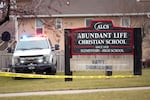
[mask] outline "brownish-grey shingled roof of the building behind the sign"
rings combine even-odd
[[[19,0],[18,0],[19,1]],[[30,0],[27,0],[30,2]],[[91,16],[149,14],[150,0],[33,0],[24,8],[36,15]],[[139,1],[139,2],[138,2]],[[21,0],[20,0],[21,2]],[[31,15],[31,14],[27,14]]]

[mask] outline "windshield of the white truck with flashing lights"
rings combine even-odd
[[[49,44],[46,40],[30,40],[20,41],[17,44],[16,50],[30,50],[30,49],[48,49]]]

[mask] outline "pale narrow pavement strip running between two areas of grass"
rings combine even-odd
[[[62,95],[62,94],[80,94],[92,92],[110,92],[110,91],[133,91],[133,90],[150,90],[150,87],[130,87],[130,88],[109,88],[109,89],[87,89],[87,90],[63,90],[63,91],[40,91],[40,92],[23,92],[23,93],[5,93],[0,97],[32,96],[32,95]]]

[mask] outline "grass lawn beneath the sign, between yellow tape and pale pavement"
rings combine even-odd
[[[74,75],[102,74],[101,72],[74,72]],[[12,78],[0,77],[0,93],[150,86],[149,76],[150,69],[143,70],[143,75],[135,78],[73,79],[72,82],[65,82],[64,79],[13,80]]]

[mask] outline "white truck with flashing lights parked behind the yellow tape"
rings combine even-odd
[[[12,57],[11,71],[15,73],[55,74],[56,50],[46,37],[25,37],[20,39]]]

